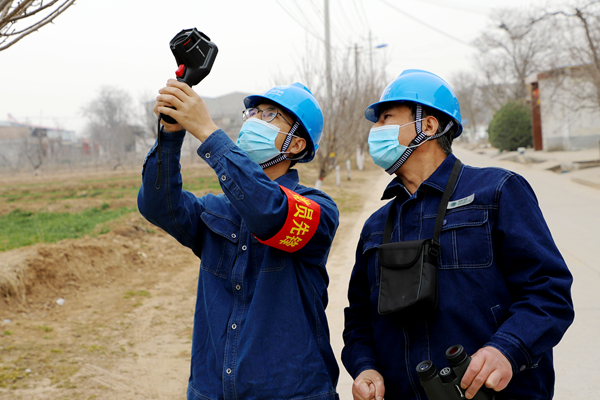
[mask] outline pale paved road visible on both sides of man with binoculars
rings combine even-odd
[[[498,166],[515,171],[523,175],[535,190],[550,231],[575,279],[575,322],[555,348],[555,398],[597,398],[600,391],[600,379],[596,373],[596,364],[600,363],[600,346],[596,343],[600,336],[600,190],[571,181],[569,174],[555,174],[528,165],[500,161],[491,158],[489,153],[480,155],[456,147],[455,154],[465,164]],[[343,346],[342,310],[346,305],[351,268],[348,255],[353,259],[362,223],[382,205],[379,196],[389,180],[390,177],[382,173],[353,232],[348,235],[353,235],[353,239],[337,245],[330,257],[328,269],[332,272],[332,284],[328,315],[332,344],[338,356]],[[352,380],[341,362],[340,367],[340,398],[351,400]]]

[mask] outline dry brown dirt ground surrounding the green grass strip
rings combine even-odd
[[[196,180],[212,173],[202,165],[186,168]],[[334,248],[356,243],[349,235],[381,171],[367,163],[352,174],[348,181],[344,172],[339,187],[333,174],[323,185],[341,212]],[[301,177],[312,186],[316,171],[301,166]],[[0,215],[16,208],[132,207],[131,187],[139,181],[139,168],[4,176]],[[124,194],[86,195],[99,186]],[[213,190],[206,186],[194,193]],[[51,191],[75,194],[57,198]],[[185,398],[199,260],[136,212],[110,228],[0,253],[0,399]]]

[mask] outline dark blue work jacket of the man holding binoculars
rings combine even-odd
[[[470,355],[493,346],[514,374],[497,400],[550,399],[552,347],[574,317],[572,276],[521,176],[464,165],[440,235],[438,308],[410,319],[377,312],[377,250],[388,212],[395,221],[392,241],[431,238],[455,160],[449,155],[412,195],[393,180],[383,199],[395,199],[365,223],[345,309],[342,361],[354,378],[367,369],[381,373],[386,399],[426,400],[417,364],[432,360],[441,370],[452,345]]]

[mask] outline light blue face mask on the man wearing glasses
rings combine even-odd
[[[277,134],[277,126],[258,118],[250,118],[242,125],[236,145],[246,152],[252,161],[262,164],[283,154],[275,147]]]

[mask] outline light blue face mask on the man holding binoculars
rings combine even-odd
[[[384,125],[378,128],[372,128],[369,132],[369,153],[373,158],[373,162],[381,168],[389,169],[409,147],[418,147],[422,143],[415,146],[404,146],[398,141],[400,128],[422,121],[423,119],[409,122],[404,125]]]

